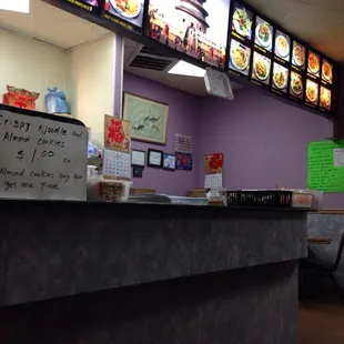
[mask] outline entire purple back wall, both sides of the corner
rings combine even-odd
[[[145,168],[142,179],[133,179],[135,188],[184,195],[191,188],[203,186],[203,156],[216,151],[224,152],[227,189],[306,188],[307,142],[332,135],[326,119],[255,90],[235,92],[234,101],[200,99],[130,73],[124,73],[123,89],[170,104],[168,145],[133,141],[134,149],[173,153],[174,133],[193,139],[194,171]],[[344,209],[344,194],[325,194],[324,206]]]

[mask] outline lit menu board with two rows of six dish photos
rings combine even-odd
[[[227,71],[330,115],[335,64],[240,0],[230,14]]]

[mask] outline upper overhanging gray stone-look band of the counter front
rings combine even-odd
[[[306,256],[306,212],[1,201],[0,303]]]

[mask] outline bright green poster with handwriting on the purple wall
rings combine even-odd
[[[310,142],[308,189],[344,192],[344,141]]]

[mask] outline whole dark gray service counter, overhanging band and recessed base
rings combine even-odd
[[[0,205],[6,340],[297,343],[304,211],[54,201]]]

